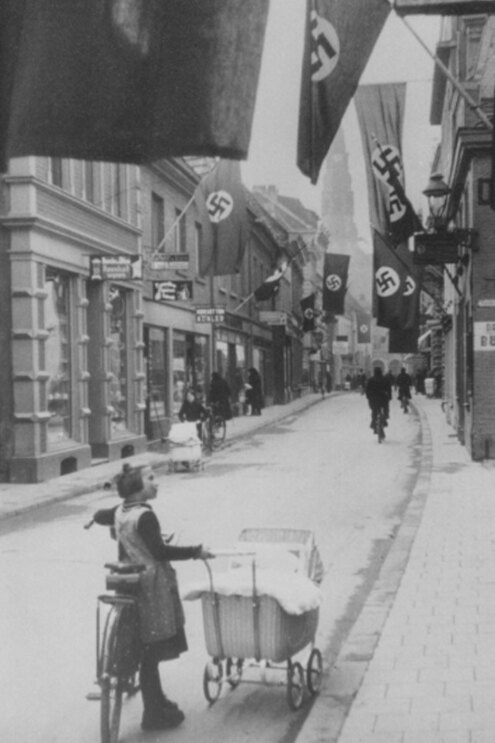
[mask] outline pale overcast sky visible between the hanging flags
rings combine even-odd
[[[271,0],[249,159],[243,164],[246,185],[275,184],[321,211],[322,172],[316,186],[296,166],[299,87],[304,38],[305,0]],[[409,19],[431,50],[439,38],[436,16]],[[418,208],[426,185],[438,128],[429,125],[433,61],[403,22],[391,13],[361,79],[362,83],[408,82],[403,154],[407,193]],[[369,243],[365,170],[353,103],[344,117],[360,236]],[[323,166],[324,167],[324,166]]]

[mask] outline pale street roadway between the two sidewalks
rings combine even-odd
[[[237,441],[208,460],[204,471],[159,478],[154,508],[181,544],[231,547],[245,527],[314,531],[325,565],[317,646],[326,667],[359,612],[411,494],[420,458],[414,413],[392,403],[387,440],[378,445],[358,393],[327,397],[305,412]],[[116,468],[117,469],[117,468]],[[115,503],[94,493],[0,525],[4,611],[0,683],[6,743],[93,743],[99,708],[93,688],[95,605],[103,563],[115,556],[106,529],[83,525],[94,510]],[[214,571],[225,568],[216,560]],[[200,563],[178,567],[184,589],[204,577]],[[177,730],[142,733],[141,701],[124,705],[121,740],[225,743],[289,742],[309,704],[292,712],[276,685],[224,687],[208,707],[202,691],[208,656],[200,602],[184,602],[189,652],[161,667],[164,688],[186,713]],[[256,669],[246,678],[260,681]],[[275,681],[271,676],[268,681]]]

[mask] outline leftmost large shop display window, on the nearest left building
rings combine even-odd
[[[71,420],[71,332],[70,278],[46,270],[47,298],[44,311],[45,365],[47,380],[47,447],[56,448],[72,434]]]

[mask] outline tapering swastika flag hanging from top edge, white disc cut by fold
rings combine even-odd
[[[321,165],[390,13],[383,0],[307,0],[297,165]]]

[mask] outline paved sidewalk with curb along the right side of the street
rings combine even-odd
[[[413,399],[423,463],[401,527],[297,743],[493,743],[495,463]]]

